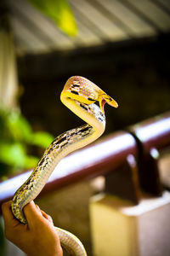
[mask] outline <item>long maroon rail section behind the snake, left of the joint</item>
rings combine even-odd
[[[137,148],[133,136],[118,131],[99,143],[94,143],[68,155],[59,162],[48,179],[42,194],[60,189],[84,178],[97,177],[111,172],[126,160],[128,154],[136,154]],[[16,189],[26,181],[31,172],[25,172],[0,183],[0,205],[14,195]]]

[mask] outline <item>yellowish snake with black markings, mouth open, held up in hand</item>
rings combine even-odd
[[[20,223],[26,224],[26,217],[22,211],[30,201],[41,192],[48,177],[55,166],[67,154],[93,143],[105,131],[105,103],[117,108],[117,102],[108,96],[104,90],[88,79],[73,76],[65,83],[60,94],[61,102],[79,118],[85,121],[84,125],[65,131],[48,146],[37,166],[31,172],[19,189],[14,193],[11,209],[14,217]],[[82,242],[71,232],[54,227],[59,235],[61,246],[75,256],[86,256]]]

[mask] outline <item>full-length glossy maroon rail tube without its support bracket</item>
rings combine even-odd
[[[170,112],[154,119],[148,119],[138,125],[133,125],[127,131],[117,131],[111,136],[105,137],[77,152],[68,155],[59,162],[48,179],[41,195],[60,189],[82,179],[89,179],[99,175],[105,175],[122,166],[129,154],[135,158],[139,155],[139,147],[145,154],[150,148],[167,148],[170,146]],[[137,140],[136,140],[137,139]],[[139,142],[140,146],[139,146]],[[139,172],[143,172],[139,168]],[[0,183],[0,205],[8,201],[14,195],[16,189],[26,181],[31,172],[25,172]]]

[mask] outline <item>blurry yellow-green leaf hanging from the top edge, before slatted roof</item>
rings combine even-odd
[[[77,25],[66,0],[29,0],[29,2],[54,20],[63,32],[70,36],[77,34]]]

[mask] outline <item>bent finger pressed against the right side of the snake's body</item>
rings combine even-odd
[[[31,201],[29,204],[27,204],[23,211],[29,227],[33,227],[35,223],[37,223],[37,219],[42,218],[42,213],[38,211],[34,201]]]

